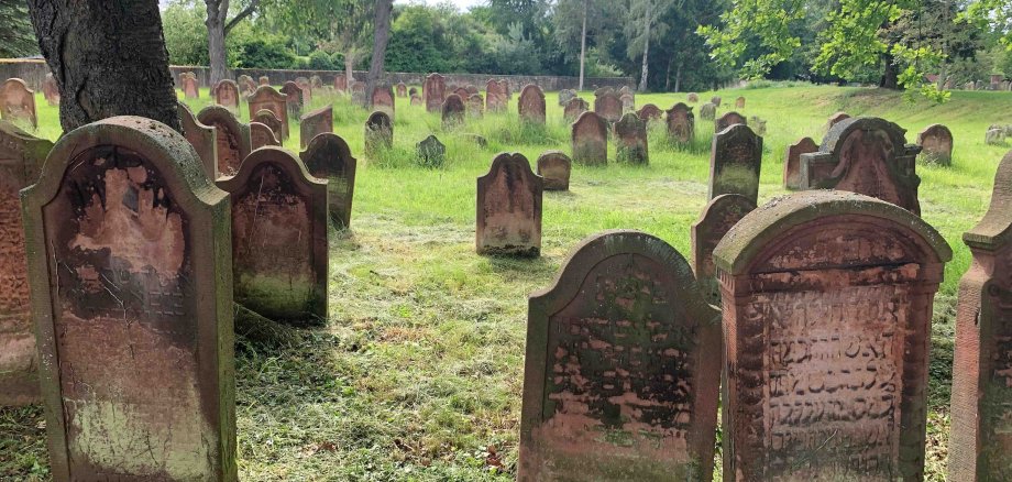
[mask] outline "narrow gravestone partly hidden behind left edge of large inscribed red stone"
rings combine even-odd
[[[703,297],[711,305],[721,306],[721,284],[713,264],[713,250],[727,231],[754,209],[756,202],[740,194],[722,194],[703,208],[700,219],[692,224],[692,271]]]

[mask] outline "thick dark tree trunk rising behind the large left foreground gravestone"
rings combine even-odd
[[[157,0],[28,3],[59,86],[65,131],[114,116],[141,116],[182,131]]]

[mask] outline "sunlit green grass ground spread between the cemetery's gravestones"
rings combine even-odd
[[[945,480],[955,295],[970,255],[964,231],[983,215],[994,169],[1008,146],[987,146],[991,123],[1012,123],[1012,94],[953,94],[946,105],[908,102],[877,89],[794,86],[718,92],[746,117],[768,120],[760,204],[784,194],[787,146],[820,141],[826,119],[844,110],[908,129],[908,141],[932,123],[956,140],[953,167],[919,166],[923,217],[953,245],[955,259],[936,297],[933,324],[928,479]],[[708,99],[713,92],[700,92]],[[190,102],[209,102],[207,90]],[[581,92],[593,103],[592,92]],[[706,201],[712,123],[696,120],[697,141],[680,150],[663,127],[650,131],[650,165],[574,166],[569,193],[546,193],[542,256],[474,253],[475,178],[498,152],[569,152],[570,130],[556,92],[546,128],[507,113],[444,131],[439,116],[397,99],[394,147],[365,158],[367,112],[334,101],[334,132],[359,158],[352,229],[332,232],[330,320],[297,340],[240,338],[237,350],[240,475],[289,480],[510,480],[516,474],[527,294],[548,286],[568,251],[605,229],[639,229],[689,253],[689,227]],[[638,95],[637,107],[662,109],[684,94]],[[38,97],[40,135],[59,134],[57,109]],[[242,117],[249,119],[243,106]],[[297,150],[298,128],[286,146]],[[447,144],[439,169],[414,164],[414,146],[430,133]],[[487,139],[480,147],[466,134]],[[614,145],[609,146],[614,158]],[[0,409],[0,480],[47,478],[40,407]],[[719,442],[719,440],[718,440]],[[717,458],[721,454],[718,452]],[[721,464],[717,463],[719,470]],[[719,476],[719,473],[718,473]]]

